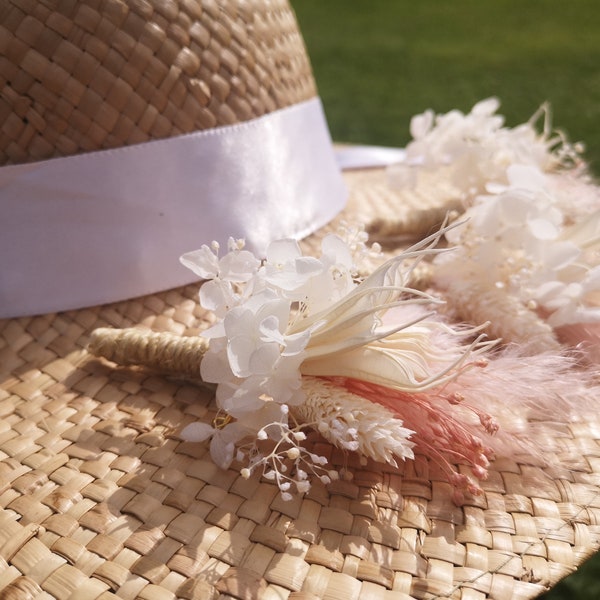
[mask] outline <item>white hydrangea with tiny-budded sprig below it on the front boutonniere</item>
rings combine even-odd
[[[330,335],[331,307],[347,314],[355,303],[361,306],[357,298],[340,309],[340,301],[359,287],[357,263],[379,252],[376,245],[366,246],[362,229],[343,226],[342,233],[347,241],[336,235],[322,240],[318,259],[303,256],[298,243],[290,239],[272,242],[264,261],[245,250],[242,241],[233,239],[221,258],[215,243],[181,258],[185,266],[207,280],[200,289],[200,302],[218,317],[217,323],[203,332],[210,346],[200,374],[204,381],[217,384],[217,405],[224,415],[215,427],[189,425],[182,437],[188,441],[210,439],[211,456],[222,468],[228,468],[234,458],[248,461],[242,469],[244,476],[262,468],[284,497],[292,483],[297,491],[306,491],[310,474],[323,481],[337,476],[325,469],[325,459],[302,448],[305,434],[290,408],[305,399],[301,365],[311,352],[315,354],[314,347],[320,346],[325,355],[336,350],[324,341],[327,338],[335,346]],[[354,333],[360,332],[357,322],[362,321],[366,341],[377,323],[372,312],[362,314],[359,309],[358,318],[354,315]],[[357,338],[352,343],[357,343]],[[410,433],[402,430],[405,438]],[[264,451],[261,442],[265,442],[262,446],[270,442],[272,448]],[[411,444],[407,442],[406,447],[410,449]]]

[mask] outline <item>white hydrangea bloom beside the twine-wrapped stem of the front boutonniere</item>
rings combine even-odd
[[[231,417],[267,411],[270,422],[271,399],[280,405],[303,400],[300,365],[321,323],[305,327],[302,322],[355,287],[353,255],[336,235],[323,239],[320,259],[303,256],[291,239],[272,242],[264,262],[239,240],[230,240],[222,258],[216,252],[217,247],[203,246],[181,259],[208,280],[200,289],[200,302],[220,317],[203,332],[210,348],[200,374],[218,384],[217,401]]]

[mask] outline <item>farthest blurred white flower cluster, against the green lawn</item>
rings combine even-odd
[[[581,145],[571,145],[560,132],[551,130],[547,106],[514,128],[504,126],[504,117],[496,114],[499,106],[496,98],[488,98],[468,114],[452,110],[436,115],[427,110],[413,117],[413,140],[406,147],[405,162],[390,168],[392,184],[415,186],[419,172],[435,170],[454,185],[468,205],[490,182],[506,185],[510,165],[530,165],[549,172],[578,160]],[[540,134],[536,122],[541,117]]]

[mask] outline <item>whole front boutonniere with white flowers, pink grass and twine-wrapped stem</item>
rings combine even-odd
[[[425,453],[460,500],[465,491],[480,493],[477,481],[486,478],[494,447],[506,446],[506,434],[496,435],[502,414],[518,413],[513,424],[523,430],[529,404],[543,404],[558,388],[540,397],[547,364],[532,375],[535,359],[496,356],[496,341],[481,327],[450,325],[436,311],[439,299],[411,287],[419,263],[443,252],[436,244],[447,233],[367,276],[358,267],[379,249],[367,247],[360,229],[326,236],[318,258],[304,256],[293,240],[273,242],[264,260],[239,240],[223,255],[216,244],[203,246],[181,259],[205,280],[200,302],[215,316],[202,337],[178,343],[169,335],[100,330],[92,351],[147,363],[151,345],[152,364],[212,384],[217,418],[188,424],[180,437],[209,443],[224,469],[235,462],[244,477],[274,481],[284,498],[306,492],[315,477],[340,476],[305,445],[309,427],[378,462],[397,465]],[[566,371],[563,363],[549,366]],[[521,381],[508,401],[515,376]],[[561,393],[572,396],[572,384],[567,378]]]

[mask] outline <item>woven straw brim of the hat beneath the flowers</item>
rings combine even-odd
[[[381,212],[376,177],[347,179]],[[553,431],[547,468],[500,458],[462,507],[422,457],[361,465],[318,437],[353,479],[285,502],[219,470],[177,438],[208,392],[85,350],[99,326],[198,333],[196,293],[0,322],[3,600],[524,600],[598,548],[600,417]]]

